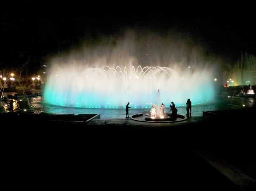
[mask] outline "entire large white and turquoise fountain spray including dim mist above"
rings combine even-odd
[[[177,38],[149,34],[128,33],[53,58],[45,102],[85,108],[125,108],[130,102],[132,108],[151,108],[158,89],[164,104],[212,100],[214,68],[202,50]]]

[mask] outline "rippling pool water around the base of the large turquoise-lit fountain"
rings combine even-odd
[[[2,108],[1,113],[9,112],[9,102],[1,102]],[[88,108],[75,108],[75,107],[63,107],[56,105],[49,105],[43,103],[42,97],[34,97],[30,99],[31,106],[28,106],[28,100],[15,100],[14,111],[27,110],[34,113],[65,113],[65,114],[101,114],[101,118],[125,118],[125,109],[88,109]],[[192,100],[193,103],[193,100]],[[214,111],[214,110],[228,110],[228,109],[239,109],[242,107],[250,107],[255,105],[255,98],[240,98],[240,97],[228,97],[228,96],[217,96],[214,102],[208,102],[199,105],[192,105],[192,116],[203,116],[203,111]],[[132,106],[132,105],[131,105]],[[177,107],[178,114],[186,114],[186,106]],[[130,108],[129,115],[136,113],[148,114],[149,108]],[[169,105],[165,105],[165,112],[169,113]]]

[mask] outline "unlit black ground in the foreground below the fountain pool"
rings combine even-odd
[[[210,150],[255,180],[255,116],[251,108],[174,125],[5,117],[5,179],[39,185],[33,188],[59,183],[74,189],[82,182],[94,189],[254,190],[255,183],[241,187],[197,151]]]

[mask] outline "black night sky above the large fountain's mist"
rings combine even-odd
[[[95,38],[117,34],[125,27],[160,33],[175,29],[189,34],[195,42],[203,41],[212,53],[231,60],[236,60],[241,51],[256,54],[253,6],[157,8],[131,2],[129,6],[116,6],[119,8],[73,1],[4,4],[0,13],[0,67],[18,67],[28,57],[33,65],[46,55],[75,47],[86,35]]]

